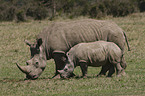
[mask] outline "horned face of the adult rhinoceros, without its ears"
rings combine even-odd
[[[46,61],[39,54],[35,55],[32,59],[28,60],[26,66],[20,66],[16,64],[17,67],[26,74],[26,79],[37,79],[46,67]]]

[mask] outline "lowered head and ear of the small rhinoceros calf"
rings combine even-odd
[[[74,62],[70,59],[67,53],[66,55],[66,61],[65,61],[65,67],[62,70],[58,70],[60,73],[61,78],[70,78],[73,75],[74,71]]]

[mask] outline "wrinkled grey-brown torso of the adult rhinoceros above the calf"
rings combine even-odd
[[[55,22],[44,33],[46,34],[44,37],[47,38],[44,40],[47,41],[47,45],[53,51],[67,52],[78,43],[98,40],[112,41],[124,47],[122,29],[110,21],[85,19],[70,22]],[[118,41],[117,39],[120,37],[122,40]],[[118,43],[120,41],[123,41],[122,45]]]

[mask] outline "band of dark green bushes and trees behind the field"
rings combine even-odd
[[[0,0],[0,21],[118,17],[145,11],[145,0]]]

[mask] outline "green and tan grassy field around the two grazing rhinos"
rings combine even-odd
[[[39,79],[24,80],[25,75],[15,65],[16,62],[25,65],[30,58],[24,40],[33,42],[50,21],[0,22],[0,96],[145,96],[145,13],[105,19],[116,22],[129,39],[131,51],[126,47],[128,66],[124,77],[97,78],[100,68],[89,67],[86,79],[51,79],[55,65],[49,60]],[[75,74],[81,75],[79,67]]]

